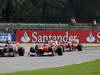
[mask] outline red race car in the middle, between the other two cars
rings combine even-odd
[[[30,48],[30,56],[33,53],[36,53],[37,55],[43,55],[44,53],[51,52],[52,56],[57,55],[63,55],[62,47],[59,45],[36,45],[35,48]]]

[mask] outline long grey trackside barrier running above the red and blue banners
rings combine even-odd
[[[51,24],[51,23],[0,23],[0,32],[15,32],[16,30],[100,30],[100,24]]]

